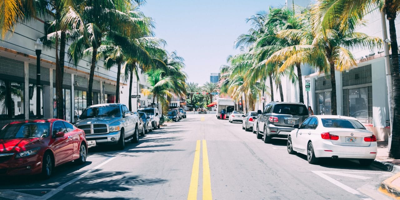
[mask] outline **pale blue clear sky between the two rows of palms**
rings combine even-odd
[[[166,40],[166,49],[185,59],[188,82],[200,85],[219,72],[234,49],[236,38],[247,33],[245,19],[286,0],[147,0],[141,7],[156,22],[156,37]]]

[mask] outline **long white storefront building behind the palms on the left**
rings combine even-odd
[[[44,22],[32,20],[18,24],[15,32],[0,40],[0,126],[16,121],[34,118],[36,110],[36,54],[34,43],[44,36]],[[66,46],[66,50],[68,45]],[[81,60],[78,66],[68,62],[64,66],[64,119],[74,122],[76,116],[86,108],[90,58]],[[41,110],[44,118],[56,116],[55,92],[55,49],[42,50],[40,64]],[[93,104],[115,102],[116,67],[104,68],[104,61],[96,64],[93,82]],[[122,81],[122,80],[121,80]],[[145,79],[140,74],[139,89],[144,88]],[[136,94],[136,82],[132,94]],[[128,104],[129,86],[120,85],[120,102]],[[132,110],[136,110],[136,99]],[[148,105],[148,97],[142,95],[140,105]]]

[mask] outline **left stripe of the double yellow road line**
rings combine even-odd
[[[198,180],[199,180],[199,164],[200,164],[200,140],[197,140],[196,151],[194,152],[192,177],[190,178],[188,200],[196,200],[197,199],[197,187],[198,187]]]

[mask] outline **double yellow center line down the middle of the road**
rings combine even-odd
[[[210,166],[208,163],[207,143],[203,142],[203,200],[212,200],[211,195],[211,178]],[[192,168],[192,177],[190,179],[188,200],[197,199],[197,188],[199,180],[199,165],[200,165],[200,140],[196,142],[196,151],[194,152],[194,161]]]

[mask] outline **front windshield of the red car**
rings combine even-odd
[[[0,131],[0,139],[45,138],[49,135],[49,122],[8,124]]]

